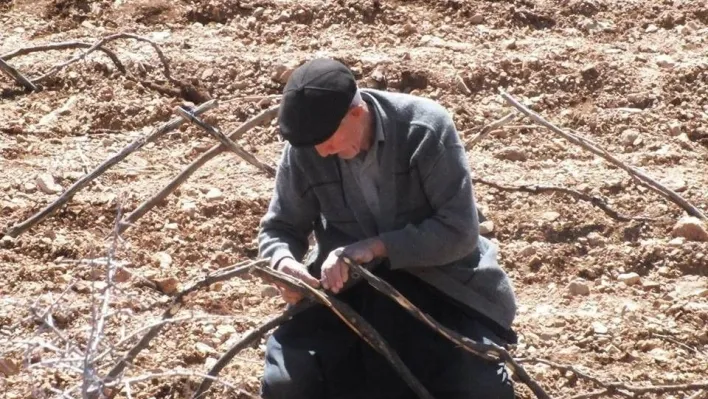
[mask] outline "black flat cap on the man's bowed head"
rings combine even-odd
[[[283,90],[281,136],[293,147],[325,142],[339,127],[356,90],[354,75],[339,61],[317,58],[299,66]]]

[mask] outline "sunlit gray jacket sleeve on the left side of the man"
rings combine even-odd
[[[283,151],[273,196],[258,233],[259,254],[270,258],[271,267],[285,257],[302,262],[318,215],[317,200],[312,190],[307,190],[304,175],[291,164],[288,149],[286,146]]]

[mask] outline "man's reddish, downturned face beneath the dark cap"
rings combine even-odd
[[[344,116],[339,128],[324,143],[315,146],[321,157],[337,155],[342,159],[352,159],[361,151],[364,124],[362,109],[355,107]]]

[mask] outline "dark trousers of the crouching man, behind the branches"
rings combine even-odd
[[[480,342],[505,342],[478,318],[403,271],[376,274],[443,325]],[[360,282],[338,297],[383,335],[436,399],[513,399],[504,367],[479,359],[415,319],[393,300]],[[388,361],[333,312],[316,306],[268,339],[264,399],[414,399]]]

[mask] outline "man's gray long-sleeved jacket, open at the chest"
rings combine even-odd
[[[314,232],[320,264],[335,248],[378,235],[392,269],[412,273],[509,329],[514,292],[496,246],[479,235],[467,156],[451,116],[421,97],[371,89],[362,96],[385,132],[379,149],[383,220],[369,220],[361,191],[336,157],[286,143],[261,221],[260,255],[271,264],[285,256],[303,262]]]

